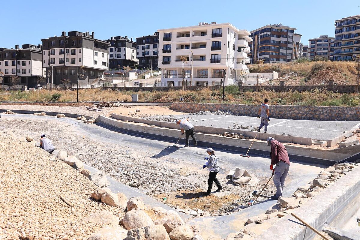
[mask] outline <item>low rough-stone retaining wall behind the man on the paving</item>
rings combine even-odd
[[[180,112],[231,111],[241,116],[257,116],[260,105],[212,104],[212,103],[172,103],[171,109]],[[297,120],[359,121],[360,107],[321,107],[271,105],[270,117]]]

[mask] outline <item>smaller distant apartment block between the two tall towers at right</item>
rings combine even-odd
[[[308,58],[310,60],[314,59],[315,56],[322,56],[326,59],[329,59],[330,53],[332,53],[331,44],[334,40],[334,37],[329,37],[328,35],[320,35],[315,39],[309,39],[309,48],[308,48]]]

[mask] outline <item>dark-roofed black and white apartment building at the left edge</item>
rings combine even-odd
[[[23,44],[22,48],[15,45],[15,49],[0,48],[0,72],[4,73],[0,83],[11,85],[10,77],[18,76],[17,84],[35,87],[36,77],[44,77],[41,49],[41,45],[32,44]]]

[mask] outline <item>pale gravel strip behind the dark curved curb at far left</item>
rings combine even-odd
[[[0,105],[1,109],[10,109],[10,110],[33,110],[35,112],[57,112],[57,113],[73,113],[78,114],[79,116],[85,115],[93,118],[97,118],[99,115],[107,115],[113,112],[114,108],[103,108],[101,111],[89,111],[85,107],[58,107],[58,106],[42,106],[42,105]]]

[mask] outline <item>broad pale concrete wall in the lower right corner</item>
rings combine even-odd
[[[360,167],[355,167],[346,176],[341,177],[332,185],[302,205],[294,213],[321,231],[325,223],[341,228],[360,207]],[[279,231],[286,229],[286,231]],[[310,240],[315,233],[307,229],[293,216],[280,219],[272,227],[265,230],[256,240]]]

